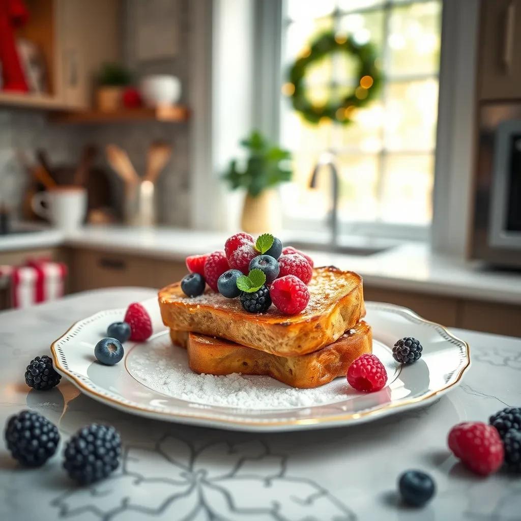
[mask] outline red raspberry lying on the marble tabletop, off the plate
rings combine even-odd
[[[486,476],[503,463],[499,432],[481,421],[464,421],[449,432],[449,449],[473,472]]]

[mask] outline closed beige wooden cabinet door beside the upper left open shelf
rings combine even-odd
[[[119,0],[57,0],[60,97],[75,108],[89,108],[96,74],[107,61],[119,61]]]

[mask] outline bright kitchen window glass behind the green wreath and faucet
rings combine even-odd
[[[344,232],[423,238],[432,220],[441,0],[287,0],[283,4],[279,135],[294,159],[294,179],[282,188],[286,226],[320,229],[331,206],[329,176],[308,188],[319,155],[332,151],[340,177],[339,219]],[[354,122],[311,125],[284,95],[293,60],[325,30],[373,42],[381,59],[379,99]],[[322,59],[309,71],[313,101],[335,82],[349,81],[345,56]],[[346,65],[345,65],[346,64]],[[348,71],[346,75],[346,70]],[[353,77],[353,88],[358,79]]]

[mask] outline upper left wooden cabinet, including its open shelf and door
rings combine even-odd
[[[30,19],[17,35],[41,49],[48,92],[0,91],[0,105],[42,109],[86,109],[95,74],[120,52],[119,0],[26,0]]]

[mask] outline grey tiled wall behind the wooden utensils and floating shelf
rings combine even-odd
[[[175,0],[178,19],[178,49],[168,59],[139,61],[134,48],[134,32],[137,24],[151,23],[152,19],[140,21],[135,16],[136,0],[123,3],[122,34],[123,58],[136,73],[137,78],[147,73],[171,73],[182,84],[181,103],[187,103],[190,87],[190,0]],[[158,3],[160,7],[160,2]],[[172,156],[158,180],[159,222],[172,226],[188,226],[189,208],[189,123],[170,124],[159,122],[127,122],[110,125],[64,125],[49,122],[47,115],[38,110],[0,108],[0,201],[21,215],[23,194],[28,175],[19,164],[16,151],[26,152],[32,159],[38,148],[45,150],[52,164],[76,165],[85,144],[98,148],[96,165],[103,167],[111,178],[115,204],[121,205],[121,190],[117,190],[119,178],[110,169],[104,157],[109,143],[122,147],[130,156],[134,168],[143,175],[148,145],[162,140],[172,145]]]

